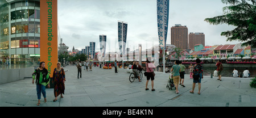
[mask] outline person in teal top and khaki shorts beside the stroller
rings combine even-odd
[[[173,75],[173,78],[174,78],[174,85],[175,85],[175,93],[176,94],[179,94],[179,81],[180,81],[180,66],[178,65],[179,64],[179,60],[176,60],[174,62],[175,65],[172,66],[172,69],[171,71],[174,72],[174,75]]]

